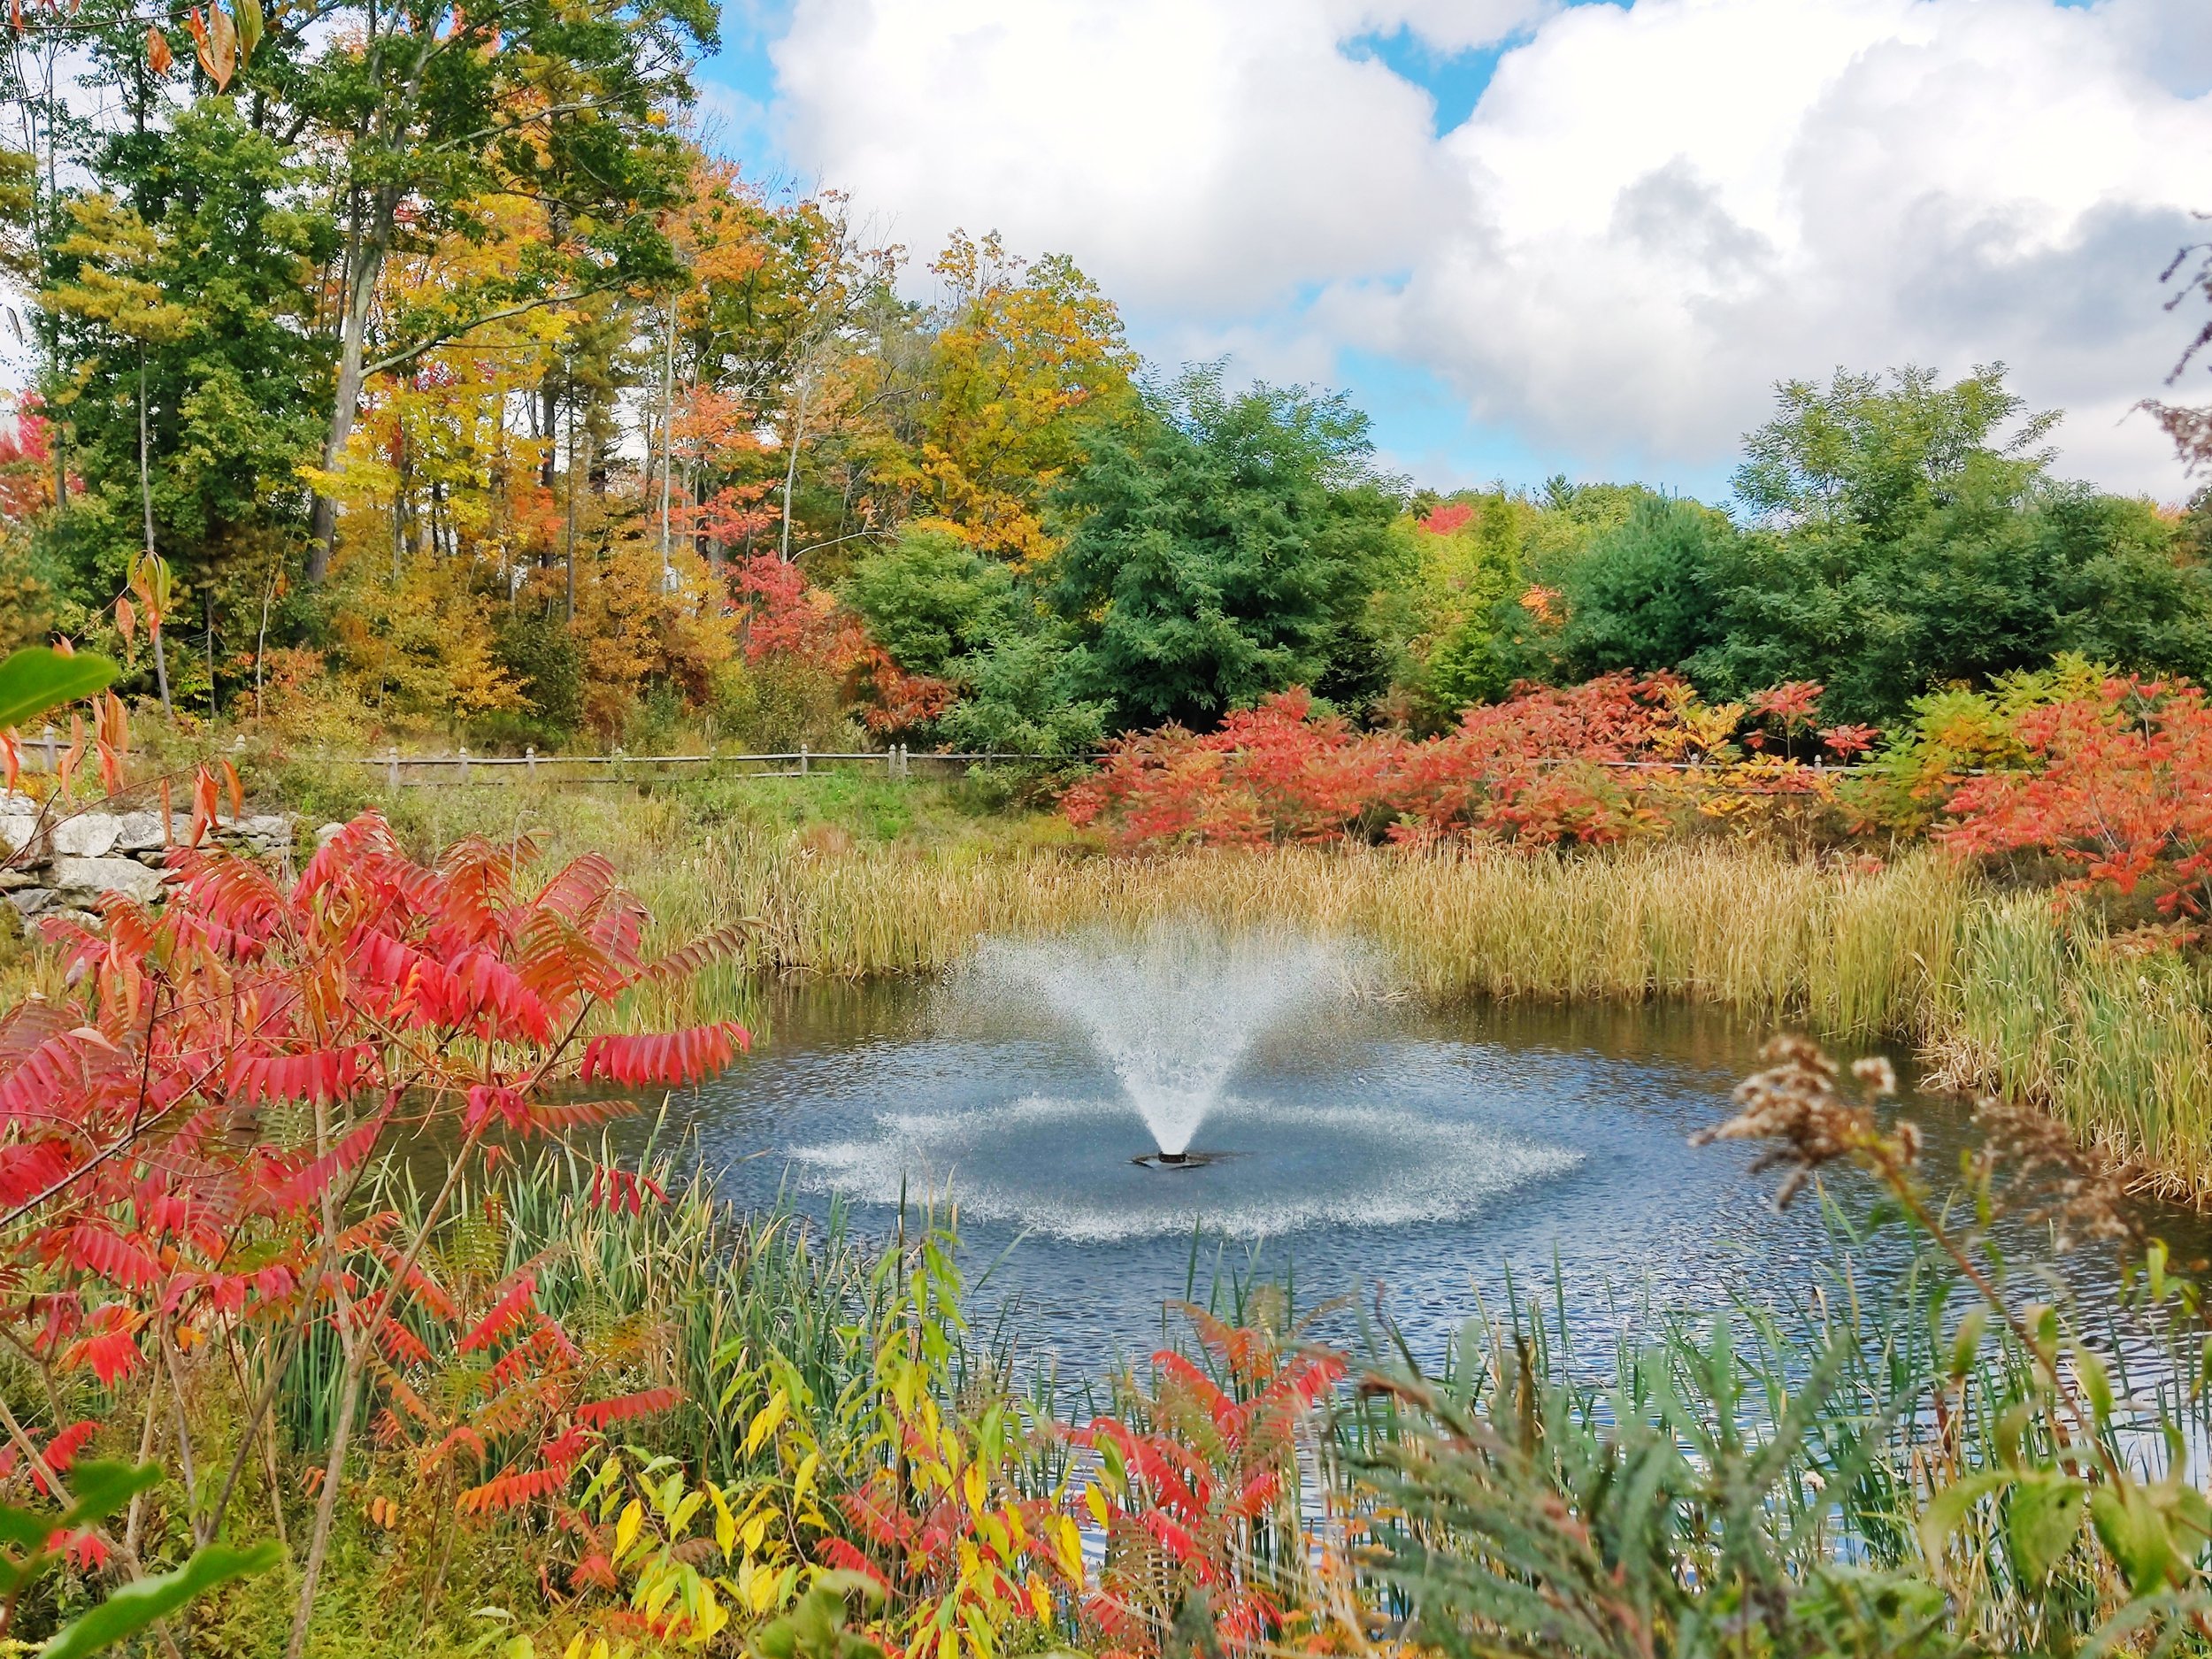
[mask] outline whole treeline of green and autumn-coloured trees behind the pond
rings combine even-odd
[[[192,18],[33,11],[0,71],[0,644],[179,719],[1077,754],[1292,686],[1431,734],[1615,670],[1874,726],[2212,672],[2212,520],[2055,480],[2002,369],[1785,385],[1730,511],[1413,493],[1340,396],[1148,372],[1068,259],[958,234],[911,299],[686,135],[706,7]]]

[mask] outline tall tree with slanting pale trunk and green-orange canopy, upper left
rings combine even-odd
[[[714,44],[708,0],[489,0],[482,7],[354,4],[285,18],[272,69],[334,148],[343,201],[343,299],[325,471],[345,453],[361,394],[484,321],[677,276],[659,215],[688,164],[666,131],[690,97],[686,64]],[[473,234],[500,201],[538,204],[542,241],[520,272],[438,294],[378,279],[403,248]],[[374,349],[372,349],[374,345]],[[336,533],[316,500],[307,575]]]

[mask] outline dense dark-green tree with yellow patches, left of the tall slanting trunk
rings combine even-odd
[[[42,296],[69,365],[46,400],[86,478],[58,526],[62,597],[82,619],[157,549],[184,615],[210,582],[250,606],[307,520],[299,467],[330,396],[310,285],[334,230],[296,206],[296,161],[223,97],[117,135],[97,173],[117,195],[71,204]]]

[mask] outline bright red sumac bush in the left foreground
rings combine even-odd
[[[212,814],[210,783],[195,843]],[[0,1022],[0,1201],[29,1223],[13,1245],[15,1347],[46,1398],[84,1371],[104,1387],[139,1378],[150,1356],[148,1411],[170,1391],[179,1436],[190,1400],[230,1394],[237,1449],[179,1444],[177,1524],[195,1544],[226,1526],[288,1356],[316,1332],[343,1354],[294,1652],[363,1391],[385,1400],[380,1433],[416,1438],[462,1511],[551,1495],[608,1425],[664,1405],[593,1396],[599,1374],[535,1305],[529,1272],[476,1287],[434,1274],[431,1232],[478,1152],[602,1121],[628,1099],[593,1099],[595,1084],[675,1086],[743,1042],[726,1022],[591,1035],[617,995],[681,978],[712,947],[648,960],[644,911],[604,860],[526,891],[526,856],[467,843],[425,867],[365,816],[281,885],[188,845],[157,911],[108,900],[97,933],[51,927],[66,1000]],[[352,1210],[403,1104],[453,1137],[411,1225]],[[628,1190],[606,1179],[611,1201]],[[416,1367],[465,1387],[434,1405]],[[190,1475],[221,1462],[226,1478]]]

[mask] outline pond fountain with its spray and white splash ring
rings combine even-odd
[[[1579,1164],[1398,1051],[1378,960],[1290,929],[993,940],[783,1144],[801,1190],[1071,1241],[1478,1214]]]

